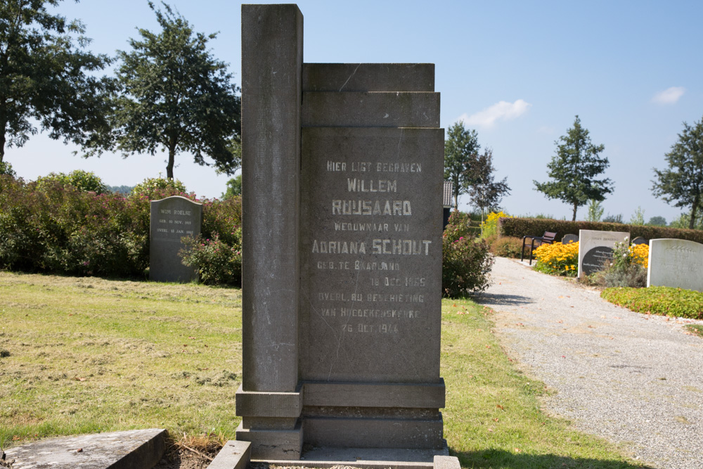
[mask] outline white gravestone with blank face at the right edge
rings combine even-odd
[[[683,239],[650,240],[647,286],[703,292],[703,244]]]

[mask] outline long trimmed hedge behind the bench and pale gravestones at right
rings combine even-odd
[[[501,218],[498,220],[500,236],[542,236],[545,231],[556,231],[557,240],[564,235],[575,234],[579,230],[598,231],[628,231],[630,238],[657,239],[676,238],[695,241],[703,244],[703,231],[666,228],[664,226],[626,225],[621,223],[605,223],[602,221],[566,221],[537,218]]]

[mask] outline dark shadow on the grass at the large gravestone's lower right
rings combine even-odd
[[[638,465],[623,461],[609,461],[593,458],[569,458],[556,454],[522,454],[502,449],[487,449],[462,453],[451,451],[457,456],[462,468],[491,469],[654,469],[650,465]]]

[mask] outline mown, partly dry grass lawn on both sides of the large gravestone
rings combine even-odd
[[[553,390],[505,354],[493,316],[471,300],[442,302],[444,435],[463,467],[640,467],[540,410]],[[241,363],[240,289],[0,272],[4,449],[167,428],[176,458],[195,454],[184,446],[207,452],[234,438]]]

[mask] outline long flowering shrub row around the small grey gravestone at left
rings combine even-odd
[[[85,172],[50,174],[30,183],[0,175],[0,268],[143,276],[149,265],[150,200],[182,195],[198,201],[179,181],[146,179],[128,197],[99,193],[100,184]],[[240,251],[241,199],[202,204],[203,239]],[[213,271],[218,265],[224,266],[222,274]],[[208,283],[240,281],[240,260],[208,261],[203,269]]]

